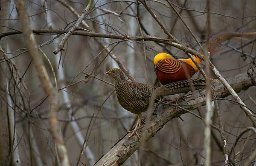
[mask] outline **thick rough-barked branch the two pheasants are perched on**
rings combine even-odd
[[[250,86],[253,86],[253,83],[251,82],[251,79],[248,77],[247,73],[242,73],[229,79],[228,83],[237,93],[241,90],[248,89]],[[221,82],[214,84],[213,87],[215,96],[217,98],[224,98],[230,94],[229,90],[227,90],[224,85],[221,84]],[[206,90],[196,91],[195,93],[184,96],[185,101],[178,102],[178,104],[188,104],[188,106],[183,107],[183,109],[177,109],[177,107],[173,105],[160,104],[160,109],[157,111],[157,114],[153,115],[151,120],[148,122],[150,125],[144,125],[138,130],[140,140],[135,135],[131,138],[128,138],[128,134],[125,135],[95,164],[95,166],[122,164],[139,148],[140,145],[148,141],[156,134],[156,132],[163,128],[167,122],[187,113],[185,109],[193,110],[197,108],[198,103],[204,104],[205,96]]]

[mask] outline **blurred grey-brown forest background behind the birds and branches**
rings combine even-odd
[[[192,35],[167,1],[145,2],[182,45],[198,50]],[[197,39],[205,43],[206,1],[171,2]],[[88,0],[25,0],[24,5],[50,82],[58,89],[58,102],[54,107],[70,164],[91,166],[131,129],[137,118],[119,105],[113,93],[114,87],[102,81],[113,83],[105,72],[110,68],[120,68],[121,64],[137,82],[159,86],[153,70],[154,56],[160,52],[170,53],[176,58],[187,56],[175,47],[153,41],[121,40],[82,33],[72,35],[64,45],[65,51],[55,55],[53,51],[64,33],[75,25],[77,14],[81,14],[88,3]],[[9,165],[10,162],[24,166],[58,165],[55,143],[58,144],[59,140],[53,139],[49,132],[50,101],[40,82],[43,71],[35,68],[29,54],[15,2],[1,0],[0,14],[0,165]],[[210,0],[211,37],[222,32],[244,33],[255,29],[255,0]],[[78,30],[89,31],[122,37],[150,35],[169,39],[139,0],[95,0]],[[255,41],[255,37],[233,38],[216,49],[211,60],[225,79],[247,71],[256,56]],[[198,77],[202,77],[200,72],[195,76]],[[238,93],[246,106],[254,111],[255,91],[254,86]],[[227,98],[233,99],[232,96]],[[218,102],[230,159],[236,159],[238,165],[255,165],[255,127],[238,104]],[[202,107],[203,115],[204,110]],[[212,137],[205,142],[204,122],[189,113],[182,118],[184,121],[175,118],[167,123],[123,165],[204,164],[205,143],[212,147],[211,164],[223,165],[219,132],[212,129]],[[212,121],[218,126],[216,115]],[[84,140],[86,149],[79,157]]]

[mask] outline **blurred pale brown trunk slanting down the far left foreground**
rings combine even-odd
[[[26,3],[23,0],[15,0],[15,5],[17,8],[17,12],[20,17],[20,22],[22,25],[23,35],[26,39],[26,46],[29,49],[29,54],[33,59],[35,64],[35,68],[38,71],[42,72],[42,76],[40,76],[40,81],[44,91],[49,96],[50,102],[50,110],[49,110],[49,130],[52,136],[55,139],[55,147],[57,149],[57,160],[60,161],[60,164],[63,166],[69,166],[69,160],[67,156],[67,149],[64,145],[64,141],[60,132],[59,124],[58,124],[58,110],[55,110],[56,104],[58,104],[58,93],[57,89],[53,87],[50,82],[49,75],[44,66],[44,61],[42,59],[41,54],[38,51],[37,44],[35,42],[35,36],[31,30],[29,17],[26,11]]]

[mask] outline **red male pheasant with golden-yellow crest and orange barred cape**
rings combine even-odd
[[[216,37],[213,37],[209,41],[208,50],[214,52],[214,49],[231,37],[243,37],[243,36],[253,36],[256,33],[223,33]],[[198,52],[202,53],[200,49]],[[193,58],[201,64],[202,59],[193,56]],[[175,59],[172,55],[167,53],[158,53],[154,57],[154,72],[157,74],[158,80],[161,84],[169,84],[172,82],[177,82],[185,79],[191,79],[191,77],[198,72],[198,68],[192,59]]]

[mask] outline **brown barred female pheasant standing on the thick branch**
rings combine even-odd
[[[120,105],[131,113],[138,115],[137,124],[134,130],[129,131],[132,132],[129,137],[136,133],[140,138],[137,133],[137,128],[140,128],[140,123],[142,121],[141,113],[148,109],[151,97],[159,99],[160,96],[188,92],[190,91],[190,85],[193,85],[195,89],[202,89],[206,85],[204,79],[191,79],[190,82],[188,80],[183,80],[156,88],[149,84],[126,81],[122,70],[118,68],[112,68],[106,72],[106,74],[110,75],[114,80],[116,97]]]

